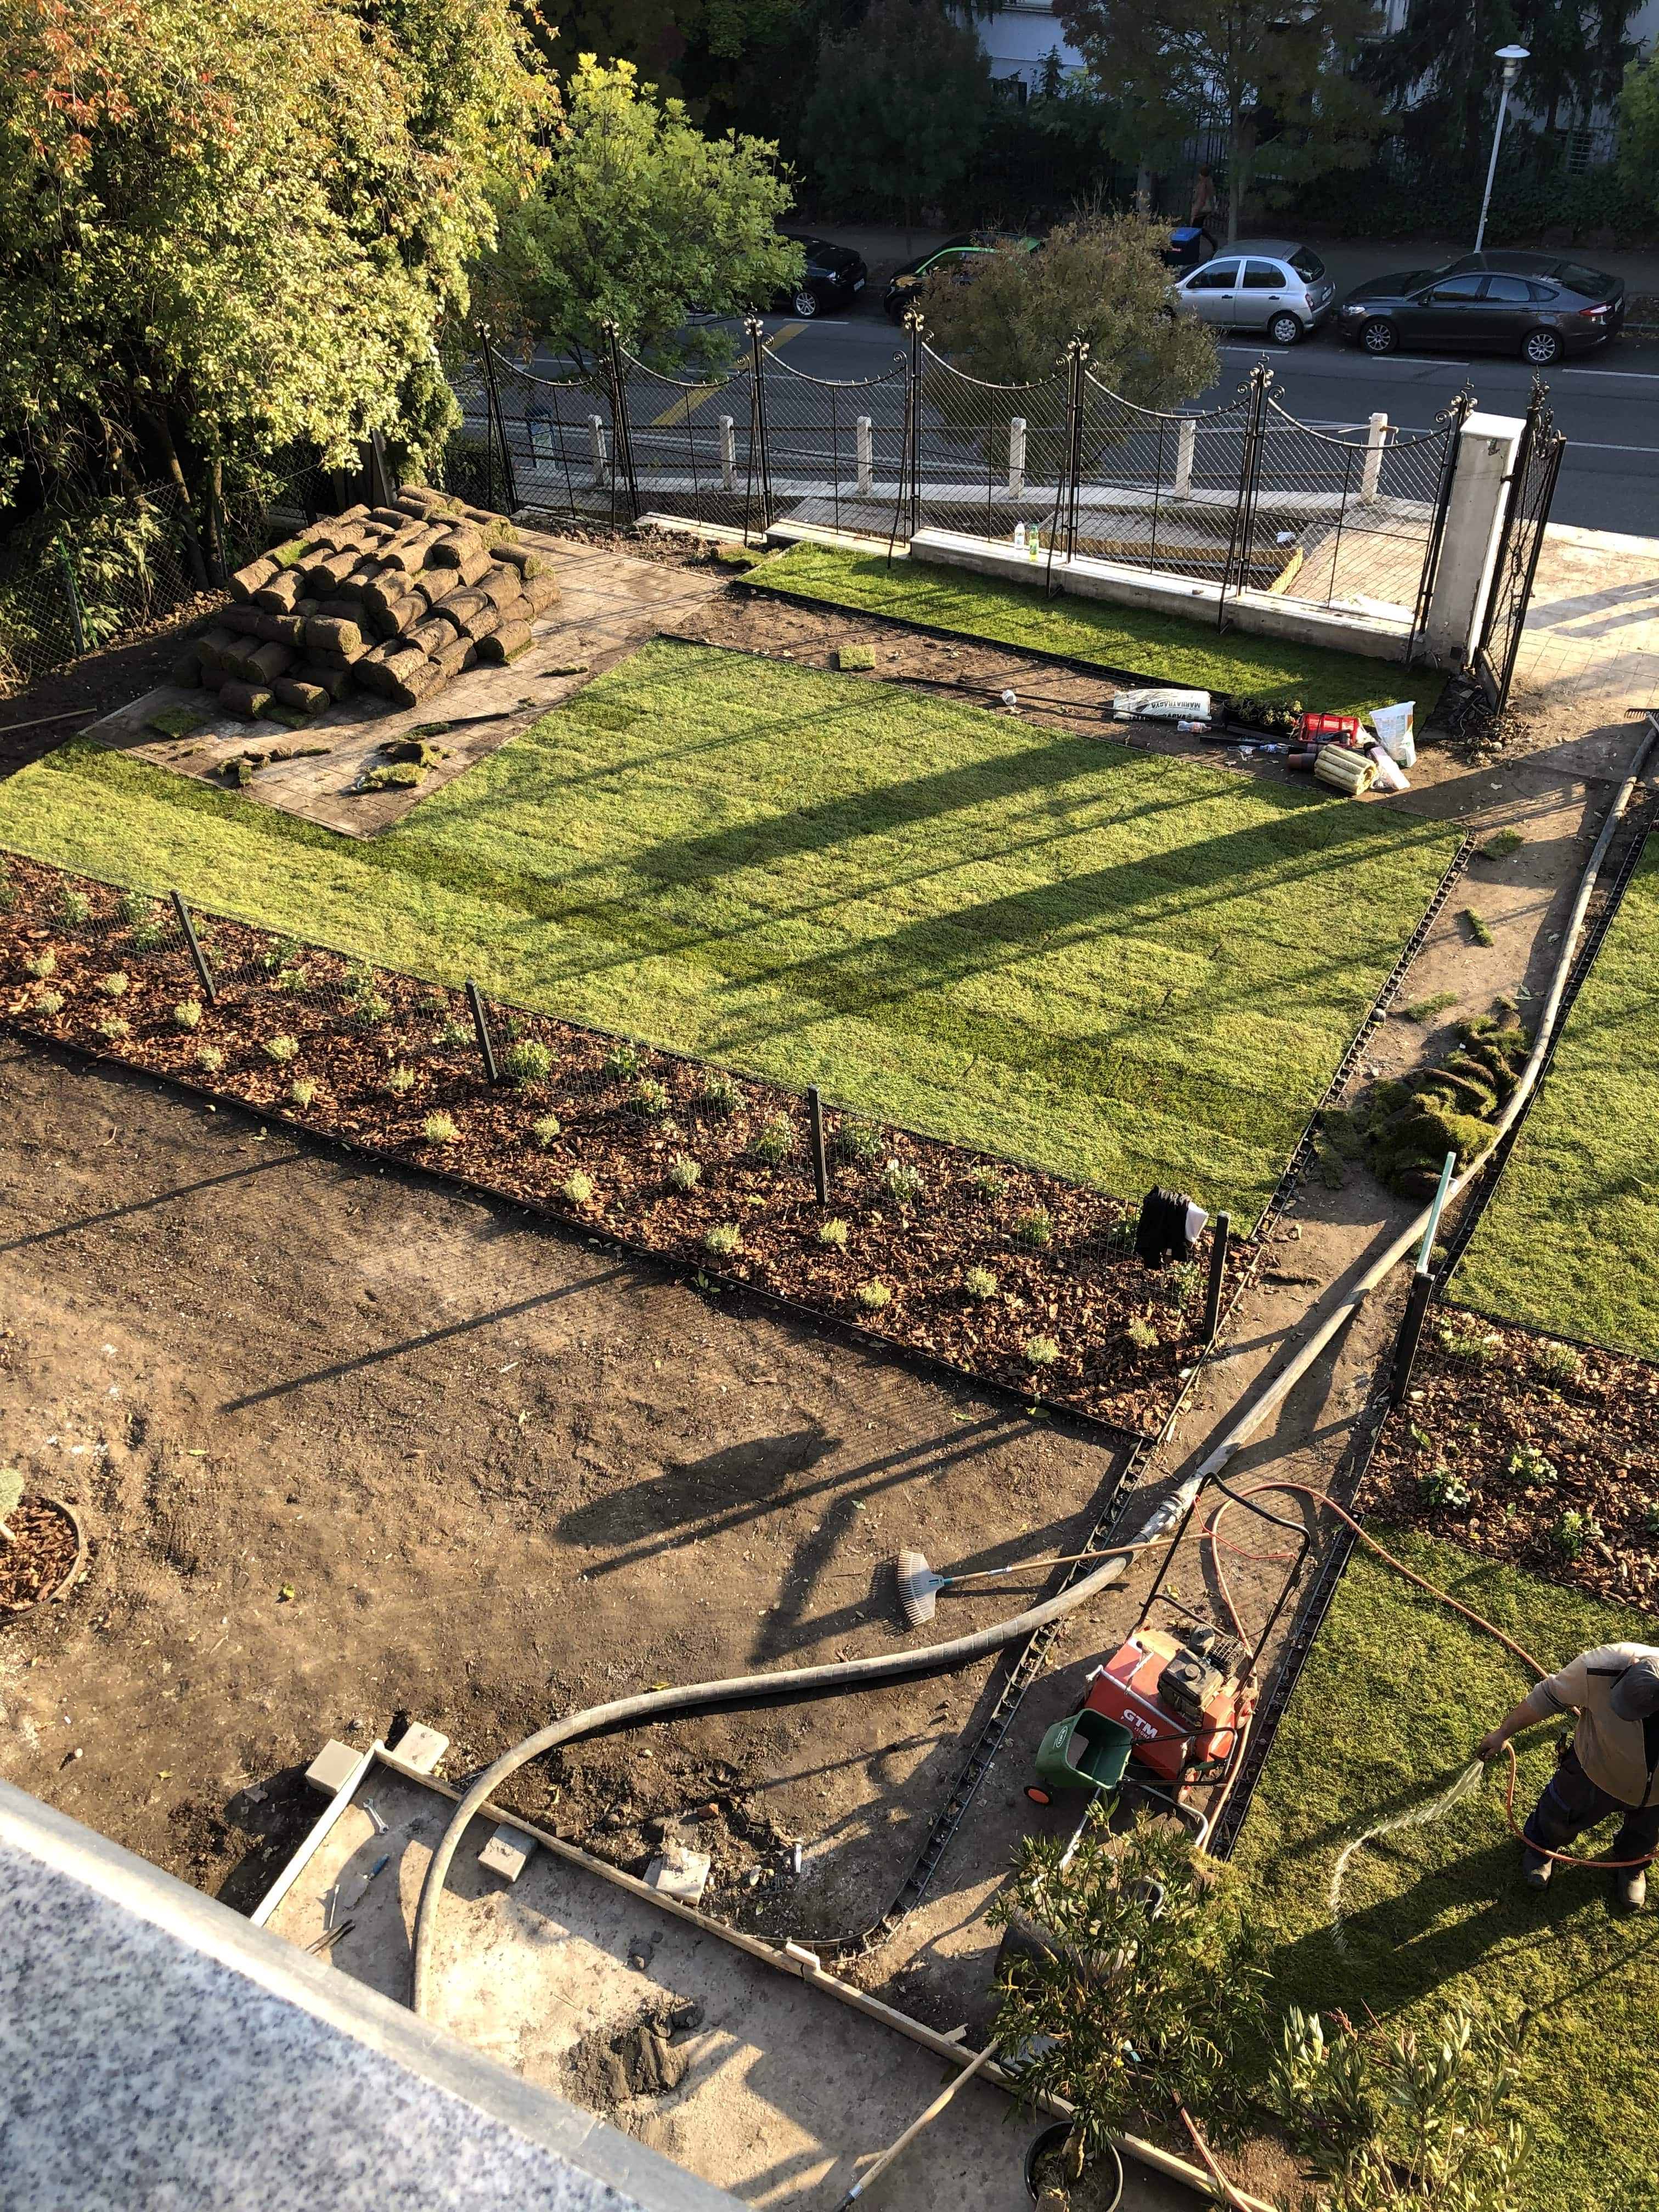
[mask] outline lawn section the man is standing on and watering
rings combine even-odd
[[[1515,1637],[1544,1666],[1659,1626],[1557,1590],[1451,1544],[1380,1531],[1389,1551]],[[1500,1772],[1433,1827],[1400,1829],[1349,1863],[1345,1951],[1327,1891],[1343,1845],[1444,1790],[1531,1677],[1491,1637],[1354,1553],[1267,1756],[1234,1854],[1265,1916],[1276,2004],[1383,2022],[1449,2004],[1531,2006],[1533,2212],[1650,2212],[1652,2022],[1659,1913],[1615,1918],[1601,1874],[1559,1869],[1544,1898],[1517,1880]],[[1522,1739],[1517,1818],[1553,1770],[1548,1728]],[[1595,1829],[1584,1856],[1604,1851]]]

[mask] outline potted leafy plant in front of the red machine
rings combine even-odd
[[[1029,2101],[1071,2106],[1026,2159],[1042,2212],[1110,2212],[1126,2128],[1208,2137],[1241,2119],[1261,1944],[1186,1829],[1141,1814],[1113,1834],[1097,1805],[1071,1849],[1026,1838],[991,1920],[1006,1929],[998,2044]]]

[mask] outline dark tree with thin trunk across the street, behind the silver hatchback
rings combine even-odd
[[[1274,195],[1358,168],[1380,131],[1356,75],[1371,0],[1055,0],[1071,42],[1115,102],[1113,144],[1157,168],[1208,124],[1225,133],[1228,239],[1256,181]]]

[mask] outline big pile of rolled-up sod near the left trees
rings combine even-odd
[[[314,714],[354,686],[418,706],[478,661],[518,659],[557,595],[511,522],[414,484],[239,568],[173,677],[248,719]]]

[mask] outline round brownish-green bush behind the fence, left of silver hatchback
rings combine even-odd
[[[998,239],[969,281],[929,276],[922,316],[940,352],[987,383],[1048,376],[1071,338],[1088,367],[1139,407],[1172,407],[1217,374],[1214,332],[1164,312],[1168,226],[1139,215],[1079,217],[1040,252]]]

